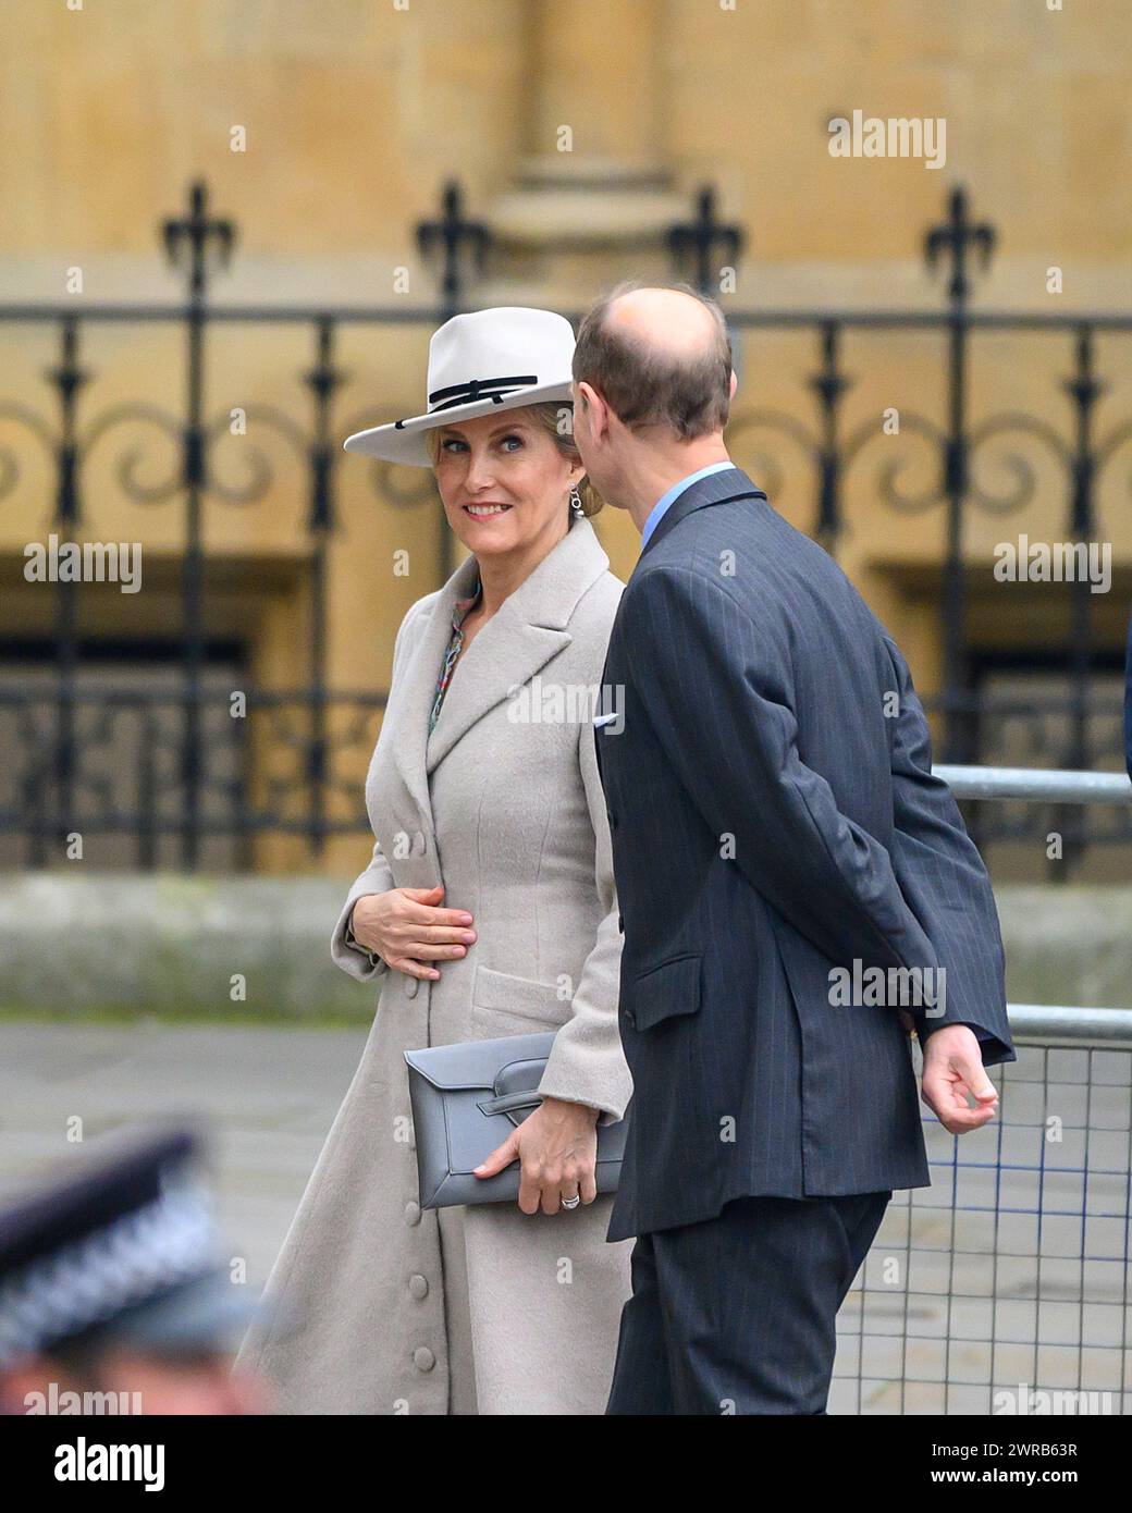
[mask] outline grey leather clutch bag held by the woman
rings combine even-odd
[[[518,1162],[495,1177],[472,1173],[542,1103],[552,1044],[545,1030],[406,1052],[422,1209],[518,1200]],[[625,1129],[625,1120],[598,1126],[598,1192],[617,1191]]]

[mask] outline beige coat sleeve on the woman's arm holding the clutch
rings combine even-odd
[[[586,720],[578,732],[578,763],[593,825],[593,885],[601,923],[574,990],[572,1017],[554,1036],[539,1091],[545,1097],[601,1109],[598,1123],[610,1124],[625,1114],[633,1077],[617,1024],[622,935],[613,881],[613,846],[593,747],[593,726]]]

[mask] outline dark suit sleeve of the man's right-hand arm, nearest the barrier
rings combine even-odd
[[[920,1041],[943,1024],[979,1036],[984,1065],[1014,1061],[1005,955],[990,878],[950,788],[932,775],[931,735],[908,664],[885,638],[899,697],[891,738],[896,879],[943,970],[944,1012],[913,1009]]]

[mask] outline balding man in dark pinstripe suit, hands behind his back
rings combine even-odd
[[[823,1413],[841,1300],[929,1182],[905,1024],[953,1133],[1014,1059],[994,900],[899,649],[726,455],[717,306],[622,286],[574,380],[642,530],[595,720],[634,1080],[608,1412]]]

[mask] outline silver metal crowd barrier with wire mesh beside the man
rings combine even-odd
[[[1121,773],[937,767],[963,799],[1127,803]],[[838,1318],[831,1413],[1132,1412],[1132,1009],[1015,1003],[996,1120],[925,1117]]]

